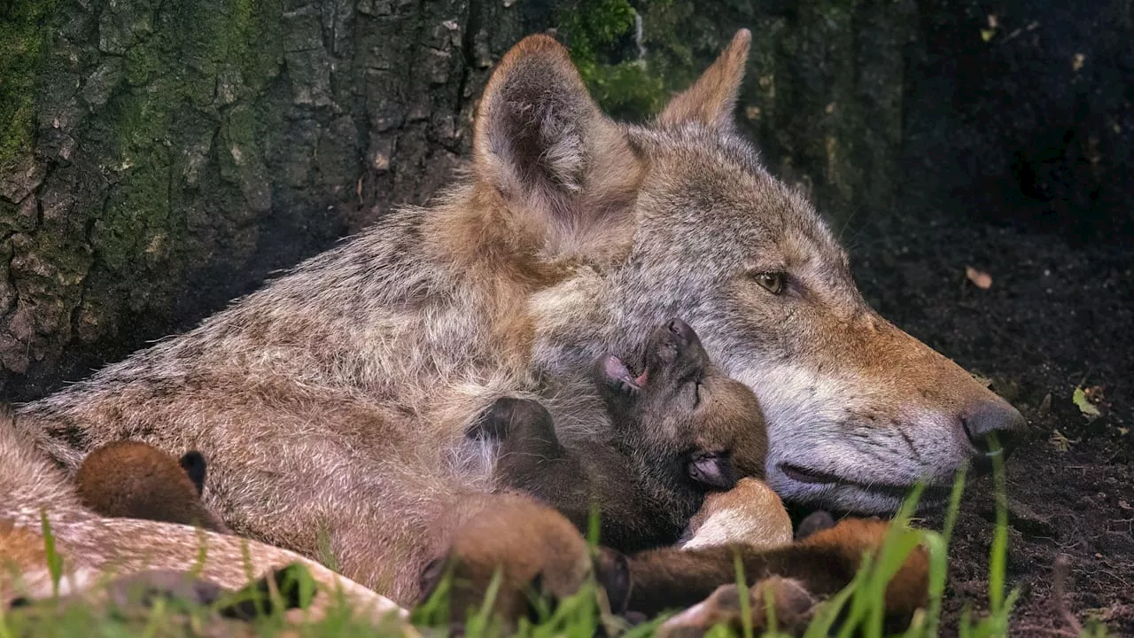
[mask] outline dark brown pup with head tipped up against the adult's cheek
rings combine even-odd
[[[501,398],[471,433],[500,440],[499,485],[535,495],[581,530],[598,505],[602,544],[634,552],[676,543],[708,492],[763,475],[755,396],[710,364],[684,321],[650,334],[640,375],[612,354],[594,369],[611,437],[567,450],[542,405]]]

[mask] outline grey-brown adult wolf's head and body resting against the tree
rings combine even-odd
[[[731,124],[750,34],[644,126],[607,118],[567,51],[535,35],[479,104],[473,175],[184,335],[22,409],[74,468],[116,438],[212,462],[235,531],[316,555],[399,602],[484,497],[464,443],[530,396],[564,445],[604,406],[602,352],[686,319],[765,411],[784,496],[869,512],[945,481],[1019,413],[863,302],[809,203]],[[591,425],[591,426],[584,426]]]

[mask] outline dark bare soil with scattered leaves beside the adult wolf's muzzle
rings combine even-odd
[[[853,227],[844,242],[868,301],[991,379],[1027,418],[1008,462],[1013,636],[1073,635],[1052,597],[1059,554],[1078,622],[1098,616],[1111,635],[1134,636],[1134,241],[933,210]],[[966,267],[991,286],[971,283]],[[1101,417],[1081,413],[1076,386],[1101,388]],[[967,602],[987,602],[992,518],[991,480],[970,481],[951,547],[950,631]]]

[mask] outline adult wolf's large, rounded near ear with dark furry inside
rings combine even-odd
[[[511,48],[477,108],[473,171],[551,252],[590,250],[636,195],[638,160],[547,35]],[[617,225],[616,225],[617,226]],[[609,240],[607,240],[609,242]],[[579,245],[583,244],[583,245]]]

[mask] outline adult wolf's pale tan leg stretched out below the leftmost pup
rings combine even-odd
[[[44,527],[53,538],[59,572],[49,563]],[[400,624],[408,616],[390,599],[287,549],[184,524],[99,515],[17,433],[7,406],[0,405],[0,606],[51,598],[56,582],[60,596],[113,596],[115,588],[104,587],[113,577],[136,582],[136,576],[169,593],[167,577],[175,572],[237,590],[296,563],[319,588],[311,607],[316,615],[341,594],[361,618]]]

